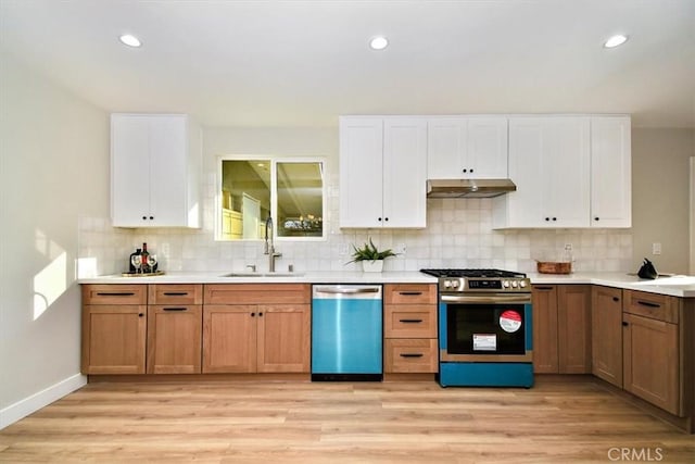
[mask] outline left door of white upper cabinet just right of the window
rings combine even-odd
[[[382,163],[383,120],[341,117],[340,227],[381,227]]]

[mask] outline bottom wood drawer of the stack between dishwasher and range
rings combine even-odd
[[[388,373],[435,373],[439,367],[437,339],[387,339],[384,359]]]

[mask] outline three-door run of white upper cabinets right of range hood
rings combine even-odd
[[[494,228],[630,227],[630,117],[509,118],[509,178]]]

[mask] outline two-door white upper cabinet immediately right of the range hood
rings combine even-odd
[[[517,191],[493,199],[493,226],[587,227],[590,118],[509,118],[509,178]]]

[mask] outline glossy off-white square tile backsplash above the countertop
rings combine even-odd
[[[336,184],[332,184],[336,185]],[[163,271],[243,271],[255,264],[267,269],[262,241],[215,241],[214,175],[204,186],[203,226],[200,229],[123,229],[109,218],[83,217],[79,223],[78,276],[127,271],[128,255],[143,241],[157,255]],[[276,241],[282,253],[277,269],[293,265],[298,272],[357,271],[350,261],[353,244],[371,237],[382,248],[405,253],[386,261],[384,271],[422,267],[496,267],[535,272],[535,260],[557,261],[565,244],[572,244],[576,272],[622,272],[631,266],[629,229],[492,229],[490,199],[429,199],[428,227],[421,230],[340,229],[338,189],[328,189],[325,216],[328,238],[320,241]],[[79,263],[90,263],[80,265]]]

